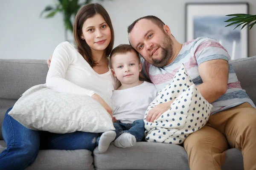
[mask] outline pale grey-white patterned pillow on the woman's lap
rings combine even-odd
[[[104,99],[114,111],[116,107],[111,99]],[[46,85],[29,88],[17,100],[9,115],[29,129],[52,133],[115,130],[111,116],[92,97],[59,93]]]

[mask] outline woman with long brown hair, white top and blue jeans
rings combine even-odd
[[[101,5],[88,4],[78,11],[74,39],[76,48],[69,42],[62,42],[55,48],[47,87],[59,92],[89,95],[112,116],[111,108],[96,94],[111,97],[116,83],[108,60],[113,48],[113,27]],[[96,147],[98,133],[56,134],[29,130],[8,115],[11,110],[6,112],[3,120],[3,139],[7,148],[0,153],[0,170],[25,169],[35,161],[39,149],[93,151]]]

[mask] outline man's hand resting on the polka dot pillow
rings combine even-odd
[[[158,119],[164,112],[168,111],[171,108],[171,104],[173,101],[174,99],[172,99],[169,102],[160,103],[159,105],[156,105],[148,112],[146,116],[146,121],[154,122],[155,119]]]

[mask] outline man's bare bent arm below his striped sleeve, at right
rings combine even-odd
[[[203,83],[198,85],[197,89],[209,103],[226,93],[229,74],[226,60],[213,59],[203,62],[198,66],[198,71]]]

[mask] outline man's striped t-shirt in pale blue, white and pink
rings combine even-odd
[[[200,85],[203,83],[203,81],[198,72],[198,65],[212,59],[227,60],[229,63],[229,76],[227,91],[215,102],[212,102],[213,108],[211,113],[214,114],[219,111],[240,105],[244,102],[248,102],[250,105],[256,108],[253,101],[241,88],[227,50],[221,44],[211,38],[199,37],[195,40],[184,43],[176,59],[171,64],[163,68],[155,67],[154,65],[146,62],[145,59],[141,58],[143,65],[141,73],[144,77],[150,79],[151,82],[154,83],[157,91],[159,92],[167,84],[172,83],[172,79],[177,70],[180,68],[180,65],[184,64],[186,71],[194,84]]]

